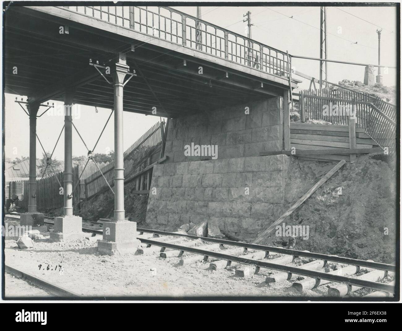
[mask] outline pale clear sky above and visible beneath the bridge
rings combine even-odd
[[[197,16],[195,6],[178,7],[187,14]],[[340,9],[344,10],[341,11]],[[251,12],[252,39],[280,49],[289,51],[292,55],[319,58],[320,56],[320,7],[201,7],[201,17],[230,31],[247,35],[243,14]],[[352,16],[355,15],[355,16]],[[293,18],[290,18],[293,16]],[[365,21],[363,21],[365,20]],[[301,22],[304,23],[301,23]],[[371,23],[368,23],[368,22]],[[377,25],[377,26],[375,26]],[[378,36],[375,32],[379,27],[381,33],[381,64],[396,66],[396,9],[394,7],[327,7],[328,55],[331,60],[377,64]],[[392,32],[394,31],[394,32]],[[346,39],[346,40],[345,40]],[[357,44],[356,44],[357,42]],[[295,70],[319,77],[319,62],[293,58]],[[337,83],[339,80],[360,80],[364,78],[364,66],[328,63],[328,80]],[[310,82],[303,80],[299,87],[308,88]],[[386,86],[396,85],[396,70],[383,70],[383,83]],[[23,110],[14,103],[16,95],[6,94],[5,110],[5,156],[15,157],[29,155],[29,118]],[[21,96],[18,96],[21,99]],[[24,98],[26,100],[26,98]],[[50,101],[50,103],[53,101]],[[44,109],[41,109],[43,111]],[[80,117],[73,121],[82,138],[92,149],[107,118],[110,109],[80,106]],[[160,120],[159,117],[145,116],[134,113],[124,113],[123,148],[127,149],[146,130]],[[48,116],[37,120],[37,134],[46,151],[53,150],[57,137],[62,130],[64,116]],[[107,153],[113,150],[113,115],[99,140],[95,153]],[[73,155],[86,155],[86,148],[73,129]],[[42,149],[37,144],[37,158],[42,157]],[[62,134],[54,152],[58,160],[64,159],[64,134]]]

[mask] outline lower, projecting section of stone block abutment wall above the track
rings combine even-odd
[[[238,145],[246,144],[252,143]],[[288,162],[288,156],[274,155],[158,164],[146,226],[176,230],[208,220],[224,232],[251,240],[283,210]]]

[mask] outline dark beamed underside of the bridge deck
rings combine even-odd
[[[59,34],[60,25],[69,26],[68,35]],[[88,61],[91,58],[107,66],[115,61],[119,51],[126,53],[127,65],[137,70],[137,77],[125,86],[125,111],[155,115],[152,107],[157,107],[157,116],[176,117],[283,95],[288,88],[283,77],[269,80],[270,75],[252,68],[228,61],[224,61],[227,64],[224,66],[220,59],[211,62],[189,56],[130,37],[154,39],[150,36],[123,28],[125,33],[117,34],[115,29],[119,27],[113,26],[111,32],[40,10],[10,8],[5,42],[6,56],[13,61],[6,62],[6,74],[17,66],[21,76],[6,75],[6,92],[27,95],[30,102],[39,103],[49,99],[62,101],[62,93],[68,87],[76,90],[75,103],[113,108],[113,88]],[[23,53],[26,44],[30,45],[29,55]],[[134,51],[131,45],[135,45]],[[244,70],[236,70],[236,66]],[[263,87],[255,87],[261,83]]]

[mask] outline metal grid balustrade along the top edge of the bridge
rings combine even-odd
[[[153,38],[163,39],[269,74],[277,76],[289,74],[285,52],[170,7],[64,6],[63,8],[152,36],[144,39],[142,43],[147,43]],[[142,43],[139,43],[139,46]],[[290,62],[289,57],[289,66]]]

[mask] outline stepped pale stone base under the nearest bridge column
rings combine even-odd
[[[143,254],[136,235],[136,222],[103,222],[103,240],[98,241],[98,252],[105,255]]]

